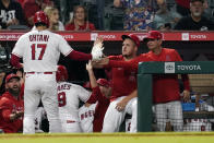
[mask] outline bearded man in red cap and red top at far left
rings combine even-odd
[[[0,99],[0,129],[16,133],[23,129],[24,100],[20,97],[21,83],[15,74],[5,78],[5,90]]]

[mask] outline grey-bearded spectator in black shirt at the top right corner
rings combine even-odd
[[[191,14],[182,17],[175,29],[181,31],[212,31],[214,29],[214,23],[207,20],[204,13],[204,0],[190,0]]]

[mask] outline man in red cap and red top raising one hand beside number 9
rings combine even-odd
[[[98,79],[96,81],[91,61],[86,64],[86,70],[93,91],[87,104],[95,104],[97,102],[94,111],[93,132],[100,132],[106,110],[110,104],[109,97],[111,96],[111,87],[106,79]]]

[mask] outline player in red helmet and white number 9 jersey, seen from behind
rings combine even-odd
[[[79,119],[79,103],[80,100],[85,103],[90,98],[91,92],[80,85],[66,82],[67,80],[66,67],[58,65],[57,91],[62,132],[82,132]]]

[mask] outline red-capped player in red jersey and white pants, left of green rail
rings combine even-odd
[[[129,61],[136,57],[138,47],[140,47],[138,36],[122,35],[122,55],[109,56],[107,59]],[[126,114],[132,115],[130,132],[136,132],[136,71],[127,68],[105,68],[111,70],[112,95],[102,132],[118,132]]]

